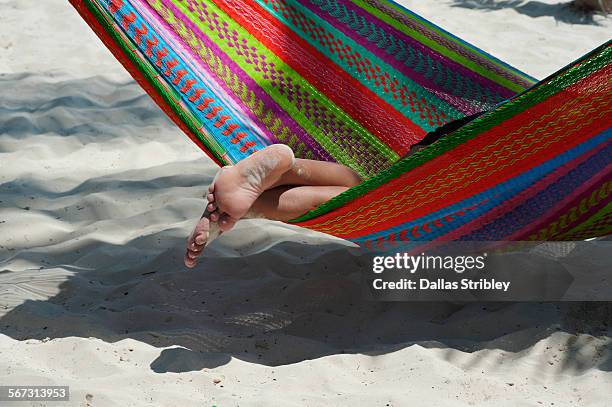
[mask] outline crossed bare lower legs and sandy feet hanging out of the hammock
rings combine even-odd
[[[295,159],[287,146],[268,146],[217,174],[207,192],[205,216],[187,241],[185,265],[195,266],[215,226],[217,233],[227,231],[249,210],[289,220],[360,182],[357,173],[341,164]]]

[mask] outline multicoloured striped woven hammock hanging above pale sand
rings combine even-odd
[[[284,143],[366,180],[291,223],[374,248],[612,231],[610,42],[536,83],[387,0],[71,3],[219,165]]]

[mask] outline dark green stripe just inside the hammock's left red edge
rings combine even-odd
[[[149,84],[156,90],[157,94],[159,94],[164,100],[166,106],[169,106],[172,111],[180,118],[181,122],[184,123],[187,128],[191,131],[192,135],[194,135],[198,140],[202,142],[204,147],[222,164],[229,164],[225,159],[222,158],[224,154],[224,149],[214,142],[213,138],[208,140],[200,131],[200,128],[203,127],[203,124],[196,119],[192,114],[186,112],[181,109],[179,105],[175,104],[175,100],[180,100],[180,95],[178,95],[172,88],[164,87],[157,79],[158,76],[155,68],[151,65],[151,63],[144,59],[144,57],[138,57],[132,49],[138,49],[135,44],[131,42],[131,40],[123,35],[119,34],[115,29],[115,25],[113,23],[112,16],[106,12],[104,9],[99,9],[93,4],[93,1],[86,0],[84,2],[85,7],[89,10],[89,12],[95,17],[95,19],[102,25],[106,33],[114,40],[114,42],[119,45],[123,54],[132,62],[138,70],[142,73],[143,77],[149,82]],[[132,44],[130,47],[128,44]]]

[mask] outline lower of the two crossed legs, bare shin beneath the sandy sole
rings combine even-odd
[[[347,189],[344,186],[276,187],[257,198],[247,217],[288,221],[315,209]]]

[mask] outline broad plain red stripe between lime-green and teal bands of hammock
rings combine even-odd
[[[345,72],[341,67],[329,62],[329,58],[304,41],[254,1],[228,2],[227,0],[214,0],[214,2],[238,24],[245,27],[266,48],[274,52],[283,62],[312,83],[317,89],[325,93],[325,96],[342,108],[342,110],[353,118],[360,118],[357,120],[358,122],[362,123],[369,132],[376,135],[396,153],[400,155],[405,154],[411,144],[414,144],[414,142],[420,140],[425,135],[423,129]],[[241,12],[239,10],[241,6],[245,9],[249,7],[247,12]],[[246,17],[253,14],[257,15],[257,17]],[[303,52],[300,53],[299,57],[295,53],[288,51],[288,46],[290,45],[301,48]],[[322,61],[327,62],[323,63]],[[319,73],[333,70],[336,74],[333,80],[339,81],[339,83],[332,86],[332,81],[325,81],[322,80],[323,78],[313,75],[310,69],[306,69],[306,67],[310,66],[316,67],[314,71]],[[343,90],[344,95],[350,90],[364,95],[365,97],[362,100],[367,100],[368,104],[354,103],[354,100],[351,100],[349,97],[341,97],[341,94],[338,92],[339,88]],[[381,126],[372,120],[373,117],[388,119],[385,121],[385,125]],[[414,136],[409,137],[411,133]]]

